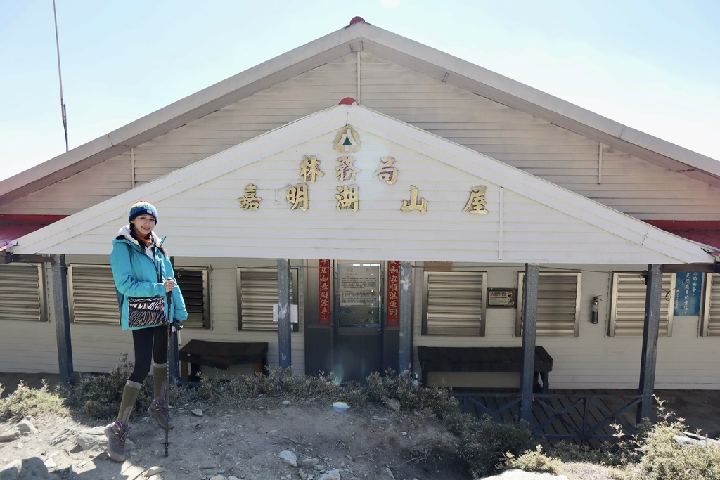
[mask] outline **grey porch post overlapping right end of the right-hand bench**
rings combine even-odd
[[[539,266],[525,264],[523,283],[523,370],[520,373],[522,400],[520,418],[531,423],[535,378],[535,333],[538,314]]]

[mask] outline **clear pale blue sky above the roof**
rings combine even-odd
[[[355,16],[720,160],[718,0],[56,0],[70,148]],[[0,0],[0,180],[65,151],[53,0]]]

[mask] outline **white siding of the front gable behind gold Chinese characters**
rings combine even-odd
[[[334,131],[325,133],[249,164],[253,158],[235,159],[233,150],[228,150],[220,157],[227,159],[222,171],[211,169],[204,182],[193,176],[188,181],[188,189],[155,202],[161,212],[158,233],[168,235],[177,255],[192,255],[196,245],[203,245],[202,256],[341,258],[346,256],[348,244],[352,243],[353,248],[362,253],[355,255],[359,260],[377,260],[378,245],[382,245],[381,260],[564,262],[586,261],[590,253],[599,263],[673,262],[674,257],[658,258],[657,251],[639,245],[644,233],[636,232],[636,241],[626,240],[615,233],[617,229],[624,231],[624,225],[609,221],[598,224],[593,212],[580,210],[574,204],[570,209],[578,209],[579,216],[589,215],[589,221],[558,212],[555,205],[542,204],[508,189],[504,190],[503,212],[500,212],[498,185],[364,130],[359,130],[364,148],[354,154],[355,166],[361,171],[354,182],[359,185],[359,211],[338,210],[334,198],[337,186],[353,182],[339,182],[334,176],[338,153],[330,148],[335,134]],[[286,201],[286,189],[301,183],[302,155],[309,154],[318,155],[325,176],[310,184],[309,209],[306,212],[292,210]],[[399,169],[398,180],[392,186],[373,176],[379,158],[386,155],[395,158]],[[451,161],[447,153],[446,158]],[[244,166],[233,170],[235,163]],[[508,171],[505,166],[502,169],[508,172],[507,181],[513,181],[518,185],[516,188],[521,189],[523,184],[518,183],[519,178],[513,178],[516,171]],[[217,177],[213,178],[215,174]],[[199,184],[194,185],[197,182]],[[256,194],[263,199],[258,211],[240,209],[238,198],[243,196],[248,184],[256,185]],[[464,212],[472,187],[479,185],[487,187],[488,214]],[[418,199],[428,200],[425,214],[400,211],[402,202],[410,199],[411,186],[418,188]],[[562,200],[549,200],[568,209]],[[502,245],[501,215],[504,218]],[[124,217],[123,212],[113,222],[66,240],[53,249],[75,254],[104,251],[107,238],[125,222]],[[204,228],[188,230],[188,223],[211,228],[213,233],[206,235]],[[292,242],[288,242],[288,235],[292,235]],[[207,253],[210,251],[212,254]],[[625,260],[621,260],[623,258]]]

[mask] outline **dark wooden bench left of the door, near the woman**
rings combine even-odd
[[[197,381],[200,366],[227,371],[231,365],[252,363],[255,373],[264,373],[268,364],[267,342],[210,342],[190,340],[179,350],[180,378]],[[188,375],[187,365],[190,364]]]

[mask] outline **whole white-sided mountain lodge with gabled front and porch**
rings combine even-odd
[[[421,373],[418,346],[520,346],[530,266],[552,387],[633,389],[658,266],[654,384],[720,388],[720,163],[361,19],[0,181],[1,371],[132,353],[108,255],[137,199],[189,304],[181,346]]]

